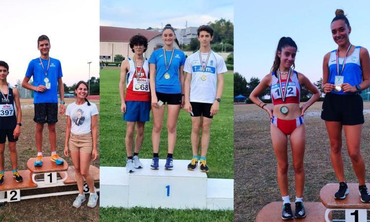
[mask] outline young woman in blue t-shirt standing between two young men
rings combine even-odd
[[[159,168],[159,140],[163,115],[167,103],[168,154],[165,169],[172,170],[172,155],[176,144],[176,124],[181,107],[184,106],[184,52],[175,49],[175,31],[166,25],[162,31],[164,47],[154,51],[149,58],[151,108],[153,112],[153,160],[151,169]]]

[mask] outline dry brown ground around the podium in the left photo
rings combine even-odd
[[[66,98],[66,105],[73,103],[74,98]],[[90,100],[95,103],[99,109],[99,100]],[[36,157],[37,149],[35,142],[35,128],[36,124],[34,118],[33,99],[21,99],[22,106],[22,127],[21,135],[17,142],[17,153],[18,153],[18,169],[27,169],[27,160],[31,157]],[[57,151],[58,154],[64,158],[69,166],[73,166],[72,159],[66,157],[63,154],[65,134],[66,134],[66,115],[58,115],[58,123],[56,124],[57,132]],[[45,124],[43,130],[43,143],[42,151],[44,156],[50,155],[50,143],[47,125]],[[7,147],[7,144],[6,144]],[[98,143],[99,151],[99,143]],[[11,163],[9,159],[9,151],[5,148],[5,171],[11,170]],[[94,166],[99,167],[99,158],[91,163]],[[13,178],[6,178],[7,180],[13,180]],[[97,185],[98,186],[98,185]],[[76,190],[77,186],[61,186],[56,188],[44,188],[43,192],[56,192]],[[30,194],[37,194],[39,191],[35,190],[23,190]],[[23,192],[21,190],[21,193]],[[76,194],[54,196],[54,197],[43,197],[35,199],[21,200],[18,202],[5,203],[3,207],[0,207],[0,222],[1,221],[53,221],[53,222],[67,222],[67,221],[99,221],[99,201],[98,205],[91,209],[87,207],[87,201],[78,209],[72,206]],[[88,198],[88,195],[86,195]]]

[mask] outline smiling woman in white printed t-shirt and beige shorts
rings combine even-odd
[[[79,194],[73,202],[78,208],[84,202],[83,181],[85,180],[90,188],[88,207],[95,207],[98,201],[98,194],[94,190],[94,178],[89,174],[91,159],[98,157],[96,141],[98,138],[98,109],[95,104],[90,103],[86,97],[88,92],[87,83],[79,81],[74,90],[76,101],[67,107],[67,129],[64,155],[69,156],[70,147],[72,162],[75,170]]]

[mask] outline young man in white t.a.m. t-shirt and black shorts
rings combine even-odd
[[[185,106],[191,114],[191,147],[193,157],[188,170],[195,170],[198,164],[199,132],[202,129],[201,156],[199,170],[208,172],[206,154],[210,141],[212,118],[220,108],[223,89],[223,73],[227,72],[225,61],[211,50],[213,30],[208,25],[197,30],[200,41],[199,51],[186,58]]]

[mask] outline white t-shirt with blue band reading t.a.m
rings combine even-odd
[[[202,64],[205,65],[207,55],[208,53],[201,53],[202,61],[200,61],[198,50],[186,58],[184,71],[191,74],[190,102],[214,103],[217,91],[217,75],[227,72],[225,61],[213,51],[211,51],[203,72]]]

